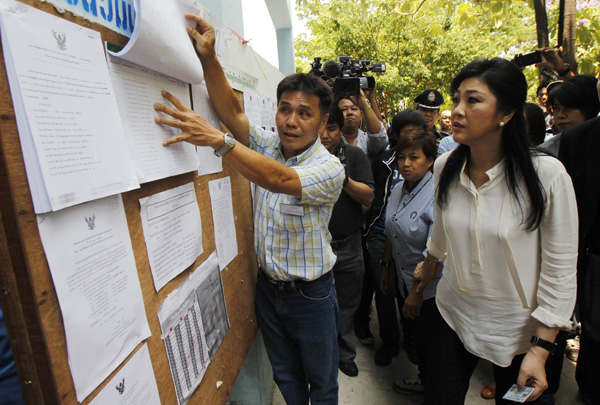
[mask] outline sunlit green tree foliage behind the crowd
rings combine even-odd
[[[558,11],[553,0],[546,2],[552,26]],[[577,35],[598,43],[600,18],[591,8],[584,8],[589,21],[578,25]],[[440,90],[448,106],[450,82],[466,63],[478,57],[510,59],[537,48],[533,3],[526,1],[297,0],[297,10],[311,33],[295,41],[297,70],[308,72],[317,56],[386,63],[387,72],[376,79],[380,106],[388,114],[412,107],[426,88]],[[597,68],[598,52],[595,62],[593,50],[586,52],[580,52],[581,68]],[[536,69],[525,73],[535,92]]]

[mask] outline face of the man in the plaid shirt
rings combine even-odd
[[[284,91],[275,114],[283,156],[290,159],[310,148],[328,117],[329,114],[321,117],[318,96],[299,90]]]

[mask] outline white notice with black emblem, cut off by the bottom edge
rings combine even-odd
[[[147,343],[129,359],[90,405],[160,405]]]

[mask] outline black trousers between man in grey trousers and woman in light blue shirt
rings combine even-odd
[[[381,264],[385,250],[385,235],[378,230],[371,230],[365,240],[363,247],[365,256],[365,277],[363,281],[362,296],[360,304],[354,317],[355,329],[364,331],[369,329],[369,312],[375,293],[375,308],[379,320],[379,336],[383,344],[398,347],[400,344],[400,328],[396,314],[395,294],[385,295],[379,288],[379,277],[381,276]],[[392,269],[393,270],[393,269]],[[395,271],[390,271],[390,290],[396,290]]]

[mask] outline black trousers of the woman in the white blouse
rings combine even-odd
[[[437,306],[432,311],[431,330],[435,331],[433,342],[428,344],[428,362],[425,375],[425,404],[426,405],[462,405],[469,390],[469,380],[479,357],[465,349],[460,338],[448,326]],[[496,404],[514,404],[505,401],[502,396],[509,388],[517,383],[521,362],[524,354],[517,355],[508,367],[494,365],[496,380]],[[536,403],[532,402],[532,403]]]

